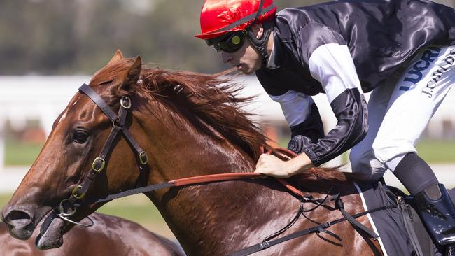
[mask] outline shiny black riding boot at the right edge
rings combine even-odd
[[[442,184],[414,196],[417,212],[433,241],[450,250],[455,246],[455,208]],[[453,250],[453,249],[452,249]]]

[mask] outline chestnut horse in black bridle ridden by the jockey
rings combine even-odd
[[[43,216],[71,197],[88,170],[104,169],[85,197],[102,198],[136,187],[213,173],[251,172],[266,138],[248,120],[236,97],[238,87],[217,75],[146,69],[141,58],[123,58],[121,52],[90,80],[90,88],[114,112],[129,96],[131,115],[125,127],[148,154],[148,176],[141,179],[137,148],[118,136],[106,162],[93,164],[108,140],[113,122],[85,93],[76,93],[55,120],[38,158],[22,180],[3,220],[10,234],[28,239]],[[117,121],[116,121],[117,122]],[[114,127],[116,127],[114,122]],[[136,150],[135,150],[136,149]],[[104,166],[105,164],[105,166]],[[99,166],[98,166],[99,165]],[[336,185],[351,214],[363,212],[362,199],[347,174],[313,169],[300,180],[304,193],[321,199]],[[293,219],[300,199],[272,178],[233,180],[148,192],[188,255],[228,255],[259,243]],[[80,206],[71,216],[79,221],[100,204]],[[314,205],[305,204],[311,208]],[[334,202],[304,213],[286,234],[343,218]],[[358,222],[372,229],[366,215]],[[61,245],[62,234],[73,225],[55,218],[38,239],[40,248]],[[378,241],[360,235],[347,222],[323,232],[279,243],[255,255],[381,255]],[[125,234],[127,236],[128,234]]]

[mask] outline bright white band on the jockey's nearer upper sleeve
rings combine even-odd
[[[360,89],[356,66],[346,45],[321,45],[311,54],[308,63],[311,76],[321,82],[330,103],[346,89]]]

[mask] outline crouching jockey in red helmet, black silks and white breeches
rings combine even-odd
[[[255,72],[290,126],[288,148],[300,155],[261,155],[256,172],[287,178],[351,149],[353,172],[377,181],[393,171],[433,240],[450,250],[454,205],[414,146],[455,83],[454,9],[365,0],[276,13],[272,0],[206,0],[200,22],[197,37],[223,62]],[[368,104],[362,92],[372,92]],[[328,134],[311,99],[318,93],[338,120]]]

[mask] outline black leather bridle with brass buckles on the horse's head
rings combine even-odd
[[[142,178],[146,178],[148,176],[149,168],[148,168],[148,157],[147,153],[142,150],[142,148],[139,146],[139,144],[134,141],[134,138],[132,138],[130,132],[127,130],[127,126],[125,125],[125,120],[127,118],[127,115],[129,113],[129,110],[132,106],[131,99],[130,97],[123,96],[120,99],[120,108],[118,110],[118,114],[114,113],[112,109],[109,107],[108,104],[102,99],[102,97],[97,94],[90,86],[83,84],[82,86],[79,87],[79,92],[81,94],[87,95],[94,104],[96,104],[104,114],[107,115],[109,120],[112,122],[112,129],[111,129],[111,134],[109,134],[109,137],[107,138],[106,142],[104,143],[104,146],[99,153],[99,156],[94,159],[92,163],[92,168],[90,169],[89,173],[85,177],[85,179],[79,183],[79,185],[76,185],[76,187],[73,188],[71,192],[71,196],[67,199],[64,199],[63,201],[60,202],[59,207],[55,208],[54,211],[52,211],[53,214],[50,214],[45,222],[48,222],[48,225],[50,225],[50,222],[52,222],[53,218],[61,218],[62,220],[65,220],[67,222],[71,222],[75,225],[82,225],[82,226],[92,226],[93,221],[89,218],[90,220],[90,225],[84,225],[80,224],[76,221],[70,220],[69,217],[71,215],[74,215],[76,213],[77,208],[82,205],[82,201],[85,198],[85,194],[87,194],[87,191],[90,188],[90,185],[94,182],[94,180],[97,178],[98,174],[101,173],[106,166],[107,159],[109,153],[112,152],[114,145],[113,142],[116,140],[118,134],[121,132],[125,139],[128,141],[132,149],[136,152],[136,155],[138,156],[139,159],[139,171],[140,171],[140,176],[139,180],[142,180]],[[53,216],[52,216],[53,215]],[[43,223],[42,226],[45,226],[44,228],[47,229],[45,223]],[[43,229],[43,227],[41,228]],[[44,232],[45,232],[44,229]]]

